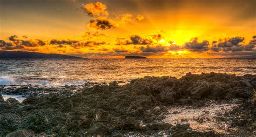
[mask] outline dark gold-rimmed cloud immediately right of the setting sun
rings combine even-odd
[[[191,51],[207,51],[209,50],[208,48],[209,42],[208,40],[203,40],[203,42],[198,42],[198,38],[192,38],[190,42],[187,42],[184,44],[184,47],[188,50]]]

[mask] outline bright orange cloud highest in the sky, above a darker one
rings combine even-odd
[[[82,5],[81,9],[84,10],[84,12],[86,12],[89,16],[109,15],[109,12],[106,11],[107,6],[101,2]]]

